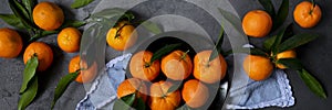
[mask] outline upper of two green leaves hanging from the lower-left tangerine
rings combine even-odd
[[[23,72],[23,82],[22,82],[22,86],[20,89],[20,94],[23,94],[27,90],[31,79],[35,76],[35,70],[37,70],[38,65],[39,65],[38,56],[33,55],[25,65],[25,68]]]

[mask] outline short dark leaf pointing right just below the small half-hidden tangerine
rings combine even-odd
[[[287,68],[291,68],[294,70],[300,70],[303,68],[301,61],[298,58],[280,58],[277,61],[277,64],[281,64]]]

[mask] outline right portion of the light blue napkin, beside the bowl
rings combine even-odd
[[[242,68],[242,62],[247,55],[237,54],[227,59],[235,59],[234,77],[226,109],[259,109],[264,107],[290,107],[294,105],[291,86],[283,70],[276,69],[270,78],[262,81],[250,79]],[[232,58],[234,57],[234,58]]]

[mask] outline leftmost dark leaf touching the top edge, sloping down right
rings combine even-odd
[[[20,19],[22,24],[28,29],[33,29],[27,20],[29,18],[27,10],[17,0],[8,0],[8,2],[10,6],[10,9],[14,13],[14,15]]]

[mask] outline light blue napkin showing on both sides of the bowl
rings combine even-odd
[[[125,78],[125,69],[132,54],[118,56],[106,64],[105,74],[100,75],[92,84],[92,88],[82,99],[76,110],[113,109],[116,89]],[[237,65],[241,65],[245,54],[228,57]],[[283,70],[274,70],[270,78],[263,81],[251,80],[243,69],[234,69],[230,92],[226,99],[226,109],[258,109],[264,107],[290,107],[294,105],[291,86]],[[231,70],[230,70],[231,72]],[[224,105],[224,103],[220,103]]]

